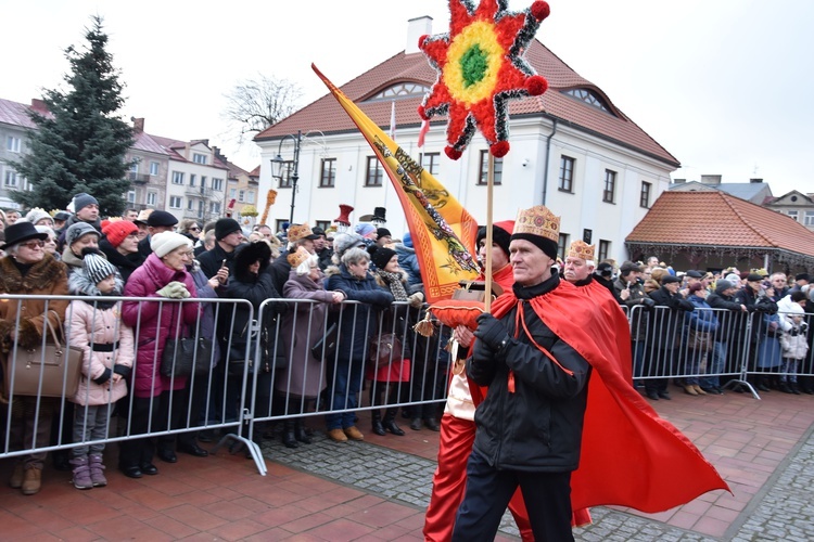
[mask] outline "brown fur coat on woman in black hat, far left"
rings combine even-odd
[[[28,269],[23,276],[11,256],[0,259],[0,294],[16,294],[31,296],[66,296],[67,270],[64,263],[56,261],[53,256],[46,254],[42,260]],[[0,302],[0,341],[3,352],[12,348],[11,332],[20,327],[16,344],[23,348],[33,348],[42,344],[46,307],[48,321],[59,336],[65,321],[65,309],[68,301],[44,299],[21,299]],[[51,343],[51,334],[48,341]]]

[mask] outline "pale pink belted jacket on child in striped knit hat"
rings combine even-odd
[[[110,309],[93,308],[92,304],[76,300],[71,301],[65,319],[69,325],[66,336],[69,337],[71,346],[81,348],[85,351],[82,362],[82,377],[79,379],[79,389],[72,399],[81,405],[114,403],[127,395],[127,384],[124,379],[113,384],[114,366],[126,367],[117,371],[127,374],[132,366],[135,348],[132,343],[132,330],[120,321],[122,304],[118,302]],[[99,345],[112,345],[118,343],[113,351],[91,350]],[[110,372],[107,371],[110,370]],[[107,373],[107,380],[97,384],[96,379]]]

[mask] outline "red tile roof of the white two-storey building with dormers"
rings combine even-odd
[[[511,115],[540,115],[555,117],[562,122],[613,141],[623,146],[639,151],[673,167],[678,160],[656,142],[627,116],[613,106],[599,87],[584,79],[538,40],[532,41],[526,59],[537,73],[548,79],[549,90],[537,98],[526,98],[510,102]],[[325,66],[322,66],[325,67]],[[330,69],[327,70],[330,77]],[[359,77],[342,86],[342,91],[353,100],[374,122],[390,127],[391,101],[363,103],[379,91],[398,82],[418,82],[432,86],[436,72],[427,62],[423,53],[400,52]],[[562,91],[584,88],[602,96],[613,111],[611,115],[580,100],[563,94]],[[396,125],[419,126],[421,119],[417,108],[423,96],[396,100]],[[342,112],[339,103],[329,94],[303,107],[255,137],[256,141],[277,139],[295,133],[297,130],[321,130],[326,133],[355,131],[351,118]]]

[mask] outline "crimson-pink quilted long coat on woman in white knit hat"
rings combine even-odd
[[[173,281],[181,282],[191,297],[198,297],[192,276],[185,271],[167,267],[155,254],[148,256],[144,263],[132,272],[125,285],[126,297],[153,297],[153,301],[125,301],[122,304],[122,318],[126,325],[138,332],[136,336],[136,367],[132,374],[131,390],[136,397],[155,397],[165,390],[183,389],[186,377],[161,376],[161,358],[169,338],[187,333],[200,315],[198,302],[178,302],[166,299],[157,291]],[[163,301],[163,302],[157,302]]]

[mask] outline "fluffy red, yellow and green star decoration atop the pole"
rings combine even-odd
[[[539,95],[548,81],[536,75],[524,53],[548,3],[534,2],[521,12],[507,11],[507,0],[449,0],[449,34],[422,36],[419,48],[438,78],[418,114],[427,120],[447,115],[447,156],[457,160],[479,127],[489,152],[509,152],[508,101]]]

